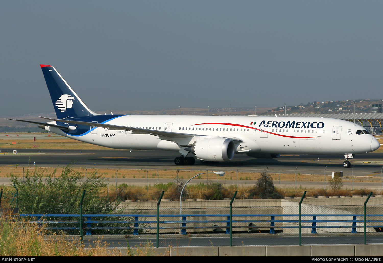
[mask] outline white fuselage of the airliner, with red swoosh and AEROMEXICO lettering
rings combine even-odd
[[[288,122],[294,125],[288,127]],[[302,123],[305,124],[303,127]],[[357,131],[365,131],[362,126],[329,118],[124,115],[105,124],[195,136],[163,140],[151,134],[109,131],[103,127],[93,128],[92,131],[90,129],[80,136],[72,136],[56,127],[47,127],[47,130],[114,149],[180,151],[182,147],[193,145],[202,136],[240,139],[242,141],[235,141],[236,153],[344,155],[371,152],[380,147],[372,135],[364,132],[357,134]]]

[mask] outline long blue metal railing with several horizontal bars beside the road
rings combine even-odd
[[[31,223],[41,224],[43,222],[49,224],[57,224],[58,226],[46,226],[44,229],[80,229],[79,226],[60,226],[59,224],[78,223],[79,221],[60,221],[60,220],[45,220],[44,217],[80,217],[79,214],[20,214],[22,217],[36,217],[36,221],[28,221]],[[87,219],[84,221],[86,224],[83,230],[86,230],[86,235],[92,235],[92,230],[98,229],[132,229],[133,235],[139,235],[139,229],[156,229],[156,226],[147,226],[139,224],[154,224],[156,220],[139,220],[139,217],[157,217],[154,214],[83,214],[83,217]],[[357,220],[357,217],[364,216],[363,214],[302,214],[302,217],[313,217],[313,220],[301,220],[302,223],[311,223],[311,225],[302,225],[301,228],[311,228],[311,233],[316,234],[318,228],[351,228],[351,233],[357,233],[357,227],[363,227],[363,225],[357,225],[357,223],[364,222],[363,220]],[[383,217],[383,214],[367,214],[368,217]],[[134,217],[134,220],[92,220],[92,217]],[[160,224],[174,224],[173,226],[160,226],[159,229],[179,229],[179,224],[182,224],[181,234],[187,234],[186,229],[214,229],[214,228],[226,228],[226,234],[229,233],[229,215],[228,214],[162,214],[159,217],[177,217],[182,218],[178,220],[162,220]],[[226,220],[187,220],[187,217],[226,217]],[[232,217],[268,217],[266,220],[232,220],[232,223],[252,223],[252,225],[233,225],[234,229],[270,229],[270,234],[275,234],[275,228],[278,229],[291,229],[298,228],[296,225],[275,225],[275,223],[298,223],[298,214],[233,214]],[[297,217],[297,220],[275,220],[275,217]],[[352,220],[317,220],[317,217],[353,217]],[[370,223],[381,223],[380,225],[367,225],[366,227],[380,227],[383,228],[383,220],[367,220]],[[92,226],[92,224],[133,224],[123,226]],[[191,226],[187,224],[198,223],[214,223],[214,226],[197,225]],[[216,225],[222,223],[223,225]],[[226,223],[226,224],[225,224]],[[254,223],[267,223],[269,225],[257,225]],[[352,223],[351,225],[317,225],[317,223]],[[178,225],[177,225],[178,224]]]

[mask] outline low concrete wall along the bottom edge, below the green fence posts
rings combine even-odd
[[[127,248],[120,249],[128,255]],[[146,253],[146,254],[145,254]],[[237,247],[165,247],[131,248],[131,255],[151,256],[382,256],[381,245],[303,245],[303,246],[237,246]]]

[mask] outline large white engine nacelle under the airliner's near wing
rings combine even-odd
[[[227,138],[200,139],[191,147],[196,158],[211,162],[227,162],[234,157],[234,142]]]

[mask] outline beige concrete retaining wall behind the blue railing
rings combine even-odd
[[[300,199],[254,199],[254,200],[235,200],[233,203],[233,214],[298,214],[298,201]],[[306,198],[302,203],[302,214],[344,214],[342,217],[317,217],[317,220],[352,220],[353,217],[347,216],[348,214],[363,213],[363,207],[355,205],[363,204],[365,198]],[[230,200],[213,200],[213,201],[182,201],[182,213],[183,214],[229,214],[229,202]],[[383,198],[376,197],[370,198],[368,204],[383,204]],[[141,214],[155,214],[157,209],[157,201],[146,201],[146,202],[122,202],[121,206],[128,205],[129,209],[138,209]],[[167,201],[163,200],[160,206],[161,214],[178,214],[179,213],[179,201]],[[323,206],[334,206],[337,207],[323,207]],[[136,211],[126,210],[126,213],[136,213]],[[367,213],[370,214],[383,214],[383,210],[380,207],[369,206]],[[151,219],[154,219],[151,217]],[[226,220],[223,217],[194,217],[195,220]],[[243,216],[236,218],[242,221],[249,220],[250,217]],[[252,220],[265,220],[264,217],[251,217]],[[267,220],[269,220],[268,218]],[[302,217],[302,220],[312,220],[313,217]],[[358,217],[358,220],[363,220],[362,217]],[[381,218],[367,218],[379,220]],[[161,220],[173,221],[178,220],[177,217],[162,217]],[[297,217],[276,217],[275,220],[297,220]],[[275,230],[282,230],[278,228],[278,225],[298,225],[298,223],[276,223]],[[331,223],[317,223],[317,226],[331,224]],[[339,223],[334,223],[338,224]],[[350,222],[340,223],[343,225],[351,225]],[[374,223],[369,223],[374,224]],[[379,224],[379,223],[376,223]],[[152,224],[153,226],[155,224]],[[177,226],[178,224],[167,224],[167,226]],[[188,224],[190,225],[190,224]],[[193,223],[193,226],[211,226],[211,229],[193,229],[187,230],[187,232],[205,232],[213,231],[216,229],[213,223]],[[221,224],[219,224],[221,225]],[[223,224],[224,225],[224,224]],[[248,223],[238,223],[235,225],[248,226]],[[269,226],[270,223],[257,223],[260,226]],[[302,225],[311,225],[311,223],[303,223]],[[360,225],[360,223],[358,223]],[[218,231],[224,231],[225,228],[219,228]],[[242,230],[258,230],[257,228],[245,228]],[[260,229],[267,230],[267,229]],[[351,232],[350,228],[317,228],[317,233],[336,233],[336,232]],[[173,230],[177,232],[177,229]],[[362,232],[362,228],[357,228],[358,232]],[[150,233],[154,233],[155,230],[150,230]],[[160,230],[161,233],[172,232],[172,230]],[[298,229],[295,228],[284,228],[284,233],[298,233]],[[303,233],[311,233],[311,228],[303,228]],[[367,228],[367,232],[375,232],[373,228]]]

